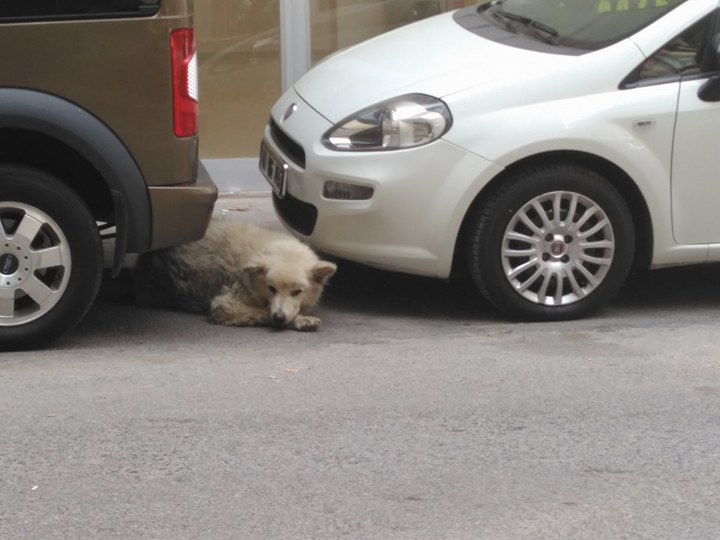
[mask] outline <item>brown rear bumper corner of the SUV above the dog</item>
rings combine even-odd
[[[153,186],[148,192],[153,231],[150,249],[184,244],[205,235],[218,190],[202,163],[198,163],[195,183]]]

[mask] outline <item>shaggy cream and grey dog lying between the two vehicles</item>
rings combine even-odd
[[[289,234],[227,220],[211,222],[201,240],[140,255],[133,278],[141,305],[227,326],[314,331],[320,319],[306,313],[335,270]]]

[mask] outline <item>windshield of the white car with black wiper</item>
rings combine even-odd
[[[685,0],[495,0],[478,12],[552,45],[596,50],[626,38]]]

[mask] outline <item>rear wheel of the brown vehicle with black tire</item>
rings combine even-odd
[[[0,350],[38,348],[87,313],[103,249],[83,200],[54,176],[0,165]]]

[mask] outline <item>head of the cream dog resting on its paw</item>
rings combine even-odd
[[[250,263],[244,268],[254,293],[267,305],[277,328],[287,326],[301,311],[315,306],[328,279],[335,273],[334,263],[314,259],[279,261],[273,258]]]

